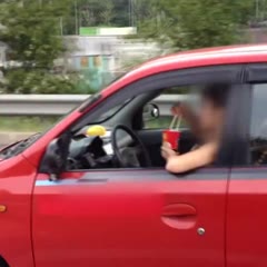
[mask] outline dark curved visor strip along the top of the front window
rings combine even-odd
[[[243,69],[244,65],[220,65],[171,70],[148,76],[121,88],[106,98],[102,102],[90,110],[90,113],[85,113],[77,122],[75,122],[70,127],[71,131],[75,132],[82,128],[82,126],[88,125],[89,121],[96,120],[101,112],[120,103],[122,99],[174,86],[205,85],[208,82],[240,83],[244,80]]]

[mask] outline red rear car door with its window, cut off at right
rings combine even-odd
[[[247,67],[244,147],[250,158],[233,168],[227,207],[227,267],[267,266],[267,65]],[[244,148],[243,148],[244,149]]]

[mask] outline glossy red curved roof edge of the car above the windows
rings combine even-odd
[[[248,62],[267,62],[267,44],[204,48],[159,57],[129,71],[121,79],[116,81],[113,86],[103,90],[103,95],[109,95],[135,80],[164,71]]]

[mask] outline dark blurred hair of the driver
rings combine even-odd
[[[228,83],[212,83],[202,89],[202,98],[210,100],[216,107],[224,108],[227,105],[229,91]]]

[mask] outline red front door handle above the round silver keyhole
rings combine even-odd
[[[197,210],[188,204],[172,204],[164,208],[161,220],[176,229],[190,229],[196,225]]]

